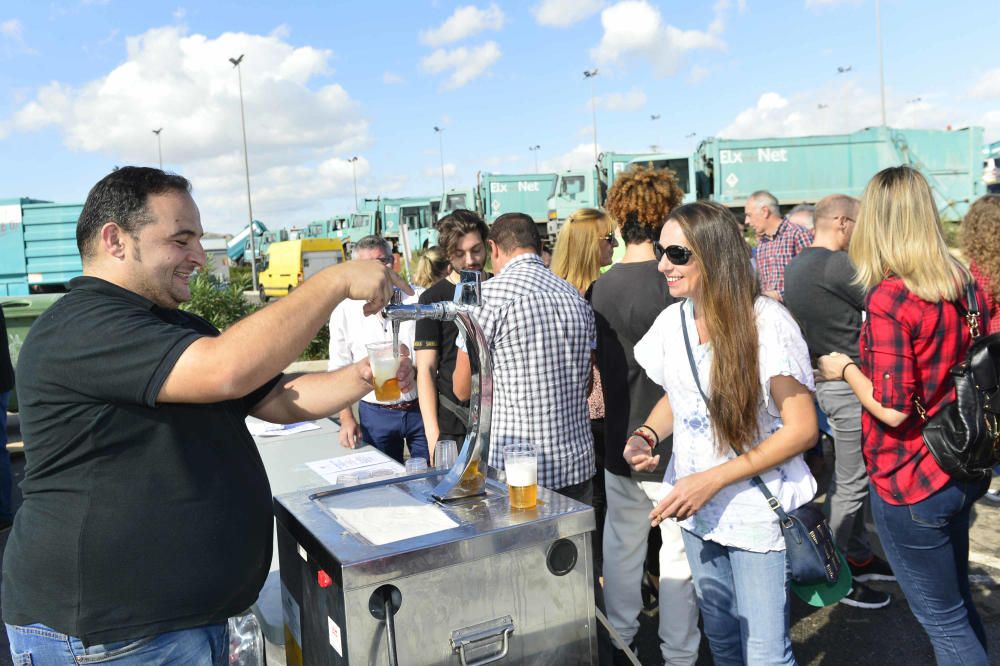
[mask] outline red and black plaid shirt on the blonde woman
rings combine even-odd
[[[981,304],[985,303],[978,289]],[[964,305],[964,296],[962,302]],[[868,318],[858,346],[862,371],[872,380],[872,394],[883,407],[909,414],[892,428],[862,411],[864,457],[875,489],[889,504],[913,504],[950,480],[921,438],[923,422],[914,398],[929,416],[955,399],[949,370],[965,358],[972,336],[953,303],[930,303],[914,296],[896,277],[868,295]],[[980,330],[989,325],[983,309]]]

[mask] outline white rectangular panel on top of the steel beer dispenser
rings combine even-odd
[[[458,527],[433,504],[396,486],[380,486],[324,499],[323,505],[344,527],[376,546]]]

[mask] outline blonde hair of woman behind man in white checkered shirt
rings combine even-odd
[[[601,274],[599,241],[615,230],[614,221],[596,208],[580,208],[566,218],[552,250],[552,272],[585,292]]]

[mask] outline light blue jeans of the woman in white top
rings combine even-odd
[[[754,553],[681,532],[715,665],[795,664],[785,552]]]

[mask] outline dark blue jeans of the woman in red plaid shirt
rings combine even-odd
[[[989,480],[951,481],[916,504],[889,504],[871,488],[872,514],[910,610],[938,666],[986,666],[986,632],[969,591],[969,512]]]

